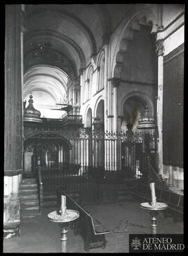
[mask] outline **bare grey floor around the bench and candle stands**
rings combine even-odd
[[[87,205],[84,208],[100,220],[111,234],[107,234],[106,248],[91,249],[89,253],[128,253],[129,234],[150,234],[150,215],[141,209],[139,202],[120,202]],[[61,241],[58,224],[48,220],[47,214],[53,208],[43,209],[42,216],[25,218],[21,222],[20,237],[3,240],[3,253],[60,253]],[[157,232],[161,234],[182,234],[183,223],[173,223],[159,213]],[[69,229],[67,253],[86,253],[84,241]]]

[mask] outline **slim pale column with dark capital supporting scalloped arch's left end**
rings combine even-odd
[[[120,78],[113,77],[111,79],[113,84],[113,130],[118,130],[118,86]]]

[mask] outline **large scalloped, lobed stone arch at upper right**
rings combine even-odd
[[[127,52],[128,46],[133,40],[134,32],[139,31],[141,25],[150,26],[150,33],[157,30],[156,17],[150,10],[139,10],[137,13],[134,13],[130,20],[127,21],[120,39],[118,40],[115,54],[113,55],[113,65],[111,70],[112,77],[120,78],[124,54]]]

